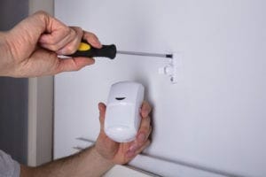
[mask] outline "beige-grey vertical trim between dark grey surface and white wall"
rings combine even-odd
[[[28,0],[29,14],[37,11],[53,15],[53,0]],[[53,76],[30,78],[28,82],[28,161],[41,165],[52,159]]]

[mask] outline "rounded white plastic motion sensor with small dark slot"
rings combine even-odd
[[[106,135],[115,142],[131,142],[140,124],[144,87],[133,81],[121,81],[111,87],[105,119]]]

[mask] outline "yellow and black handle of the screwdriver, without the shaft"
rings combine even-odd
[[[115,58],[116,55],[116,47],[114,44],[111,45],[102,45],[103,47],[100,49],[94,48],[90,45],[90,43],[83,41],[81,42],[78,50],[74,52],[74,54],[67,55],[69,57],[85,57],[85,58]]]

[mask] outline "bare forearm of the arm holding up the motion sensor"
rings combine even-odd
[[[113,163],[102,158],[94,147],[73,156],[61,158],[35,168],[21,166],[20,177],[82,177],[101,176],[113,167]]]

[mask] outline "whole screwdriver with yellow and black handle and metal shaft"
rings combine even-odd
[[[147,52],[137,52],[137,51],[123,51],[116,50],[114,44],[111,45],[102,45],[101,49],[94,48],[90,43],[82,41],[78,50],[74,54],[67,55],[68,57],[85,57],[85,58],[115,58],[116,54],[124,55],[137,55],[137,56],[146,56],[146,57],[156,57],[156,58],[173,58],[172,54],[160,54],[160,53],[147,53]]]

